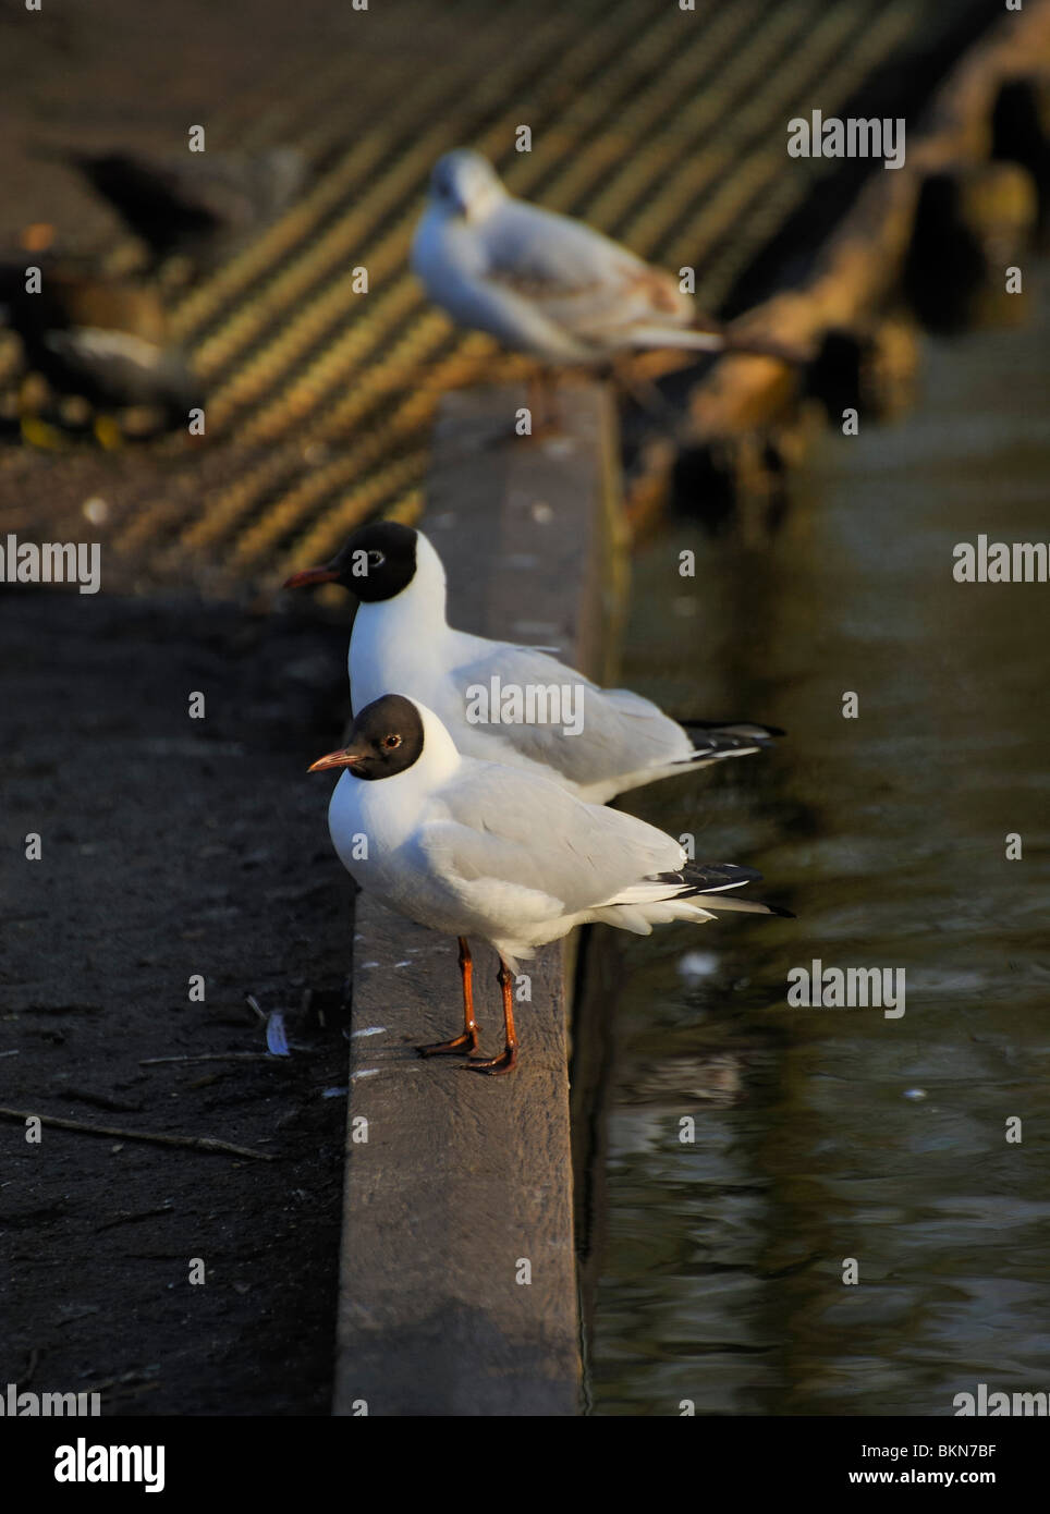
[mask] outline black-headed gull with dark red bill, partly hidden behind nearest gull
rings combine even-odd
[[[555,778],[592,804],[782,734],[747,721],[679,725],[534,646],[452,630],[440,557],[422,531],[395,521],[360,527],[330,563],[286,587],[312,583],[340,583],[362,601],[348,659],[354,710],[401,689],[437,713],[458,751]]]

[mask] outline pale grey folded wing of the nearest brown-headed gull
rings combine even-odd
[[[448,819],[427,825],[421,842],[433,866],[464,883],[531,889],[566,914],[685,860],[654,825],[499,763],[464,762],[439,798]]]

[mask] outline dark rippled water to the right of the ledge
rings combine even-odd
[[[979,531],[1050,539],[1039,303],[1024,330],[929,344],[914,412],[828,436],[767,550],[675,525],[637,562],[623,681],[790,734],[629,807],[760,866],[799,919],[605,943],[599,1414],[944,1416],[977,1382],[1050,1390],[1050,586],[952,578]],[[905,967],[906,1014],[788,1008],[812,958]]]

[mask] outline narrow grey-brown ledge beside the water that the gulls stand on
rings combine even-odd
[[[561,398],[564,436],[543,444],[505,435],[517,389],[451,394],[424,525],[454,624],[601,672],[617,598],[614,413],[595,385]],[[498,963],[471,946],[495,1052]],[[579,1411],[570,955],[561,943],[527,964],[517,1072],[474,1078],[458,1058],[415,1052],[460,1028],[455,942],[359,896],[336,1414]]]

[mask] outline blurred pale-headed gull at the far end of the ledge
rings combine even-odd
[[[516,200],[469,148],[434,167],[412,268],[458,326],[552,366],[598,365],[660,347],[805,359],[699,316],[672,274],[582,221]]]

